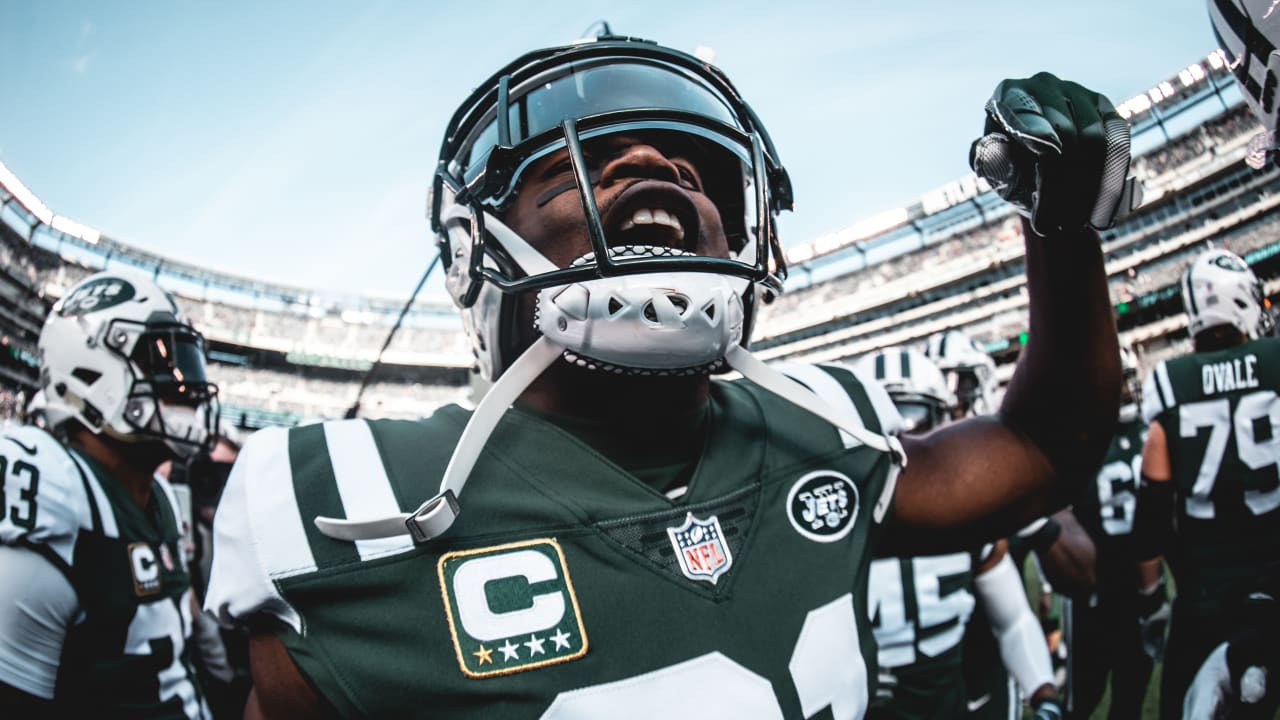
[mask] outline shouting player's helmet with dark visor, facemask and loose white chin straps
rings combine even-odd
[[[616,156],[593,158],[611,143],[621,147]],[[705,163],[696,168],[705,184],[685,187],[680,173],[626,174],[637,182],[605,191],[613,169],[639,165],[649,150],[662,158],[652,168],[669,165],[663,172],[673,172],[673,156]],[[791,186],[759,119],[701,60],[612,37],[516,60],[449,122],[428,204],[445,287],[462,309],[477,369],[495,382],[439,493],[404,515],[316,518],[324,534],[358,541],[407,529],[425,542],[445,532],[490,433],[559,359],[617,375],[700,375],[727,365],[905,461],[896,438],[870,433],[745,350],[756,301],[781,292],[786,277],[774,215],[791,209]],[[646,209],[654,211],[641,218]],[[671,217],[659,223],[657,210],[678,227]],[[703,222],[712,218],[714,228]]]

